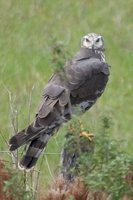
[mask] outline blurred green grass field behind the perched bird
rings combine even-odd
[[[107,61],[112,66],[108,87],[97,104],[83,118],[95,133],[98,119],[108,113],[112,135],[125,141],[123,149],[133,152],[133,4],[131,0],[0,0],[0,132],[6,139],[12,132],[9,95],[18,110],[18,129],[34,118],[44,85],[52,74],[51,41],[63,41],[74,55],[80,38],[88,32],[105,37]],[[60,152],[64,131],[53,138],[47,152]],[[1,150],[7,145],[1,139]],[[58,168],[59,155],[49,155],[51,170]],[[46,162],[42,179],[49,180]],[[56,165],[55,165],[56,163]],[[56,167],[57,166],[57,167]]]

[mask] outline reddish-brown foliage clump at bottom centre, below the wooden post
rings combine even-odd
[[[131,177],[131,176],[130,176]],[[62,177],[57,177],[47,194],[41,200],[112,200],[104,192],[91,192],[80,179],[70,183]],[[124,196],[122,200],[133,200]]]

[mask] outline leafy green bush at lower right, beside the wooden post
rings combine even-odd
[[[78,158],[80,176],[92,191],[104,191],[111,199],[133,196],[127,177],[132,173],[133,157],[122,150],[122,142],[110,137],[110,122],[102,119],[102,126],[94,138],[94,151]]]

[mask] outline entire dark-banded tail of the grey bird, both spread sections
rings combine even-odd
[[[40,120],[40,118],[39,118]],[[43,149],[47,145],[49,138],[57,132],[60,125],[65,121],[64,117],[57,118],[47,126],[37,126],[35,123],[28,126],[27,129],[13,136],[10,141],[10,150],[14,151],[20,146],[30,143],[26,154],[20,160],[18,167],[21,170],[31,170]],[[40,122],[40,121],[39,121]],[[36,121],[37,123],[37,121]],[[39,124],[39,123],[38,123]]]

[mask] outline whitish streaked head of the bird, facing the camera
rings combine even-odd
[[[81,47],[103,51],[104,38],[96,33],[89,33],[81,39]]]

